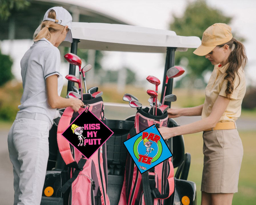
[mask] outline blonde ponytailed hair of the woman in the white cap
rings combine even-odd
[[[53,9],[51,9],[51,11],[49,11],[48,18],[56,19],[56,13]],[[47,40],[49,40],[51,38],[51,33],[55,33],[58,31],[63,32],[64,28],[65,28],[64,26],[59,25],[53,21],[42,21],[41,30],[36,35],[34,41],[36,42],[36,41],[40,40],[41,38],[46,38]]]

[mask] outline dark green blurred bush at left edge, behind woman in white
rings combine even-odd
[[[0,50],[0,86],[3,86],[3,84],[13,78],[13,74],[11,72],[12,64],[13,61],[10,56],[3,55]]]

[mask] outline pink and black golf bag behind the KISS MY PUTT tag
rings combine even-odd
[[[98,119],[104,119],[104,104],[101,97],[90,99],[90,95],[84,94],[84,104],[90,105],[89,110]],[[62,193],[70,187],[69,205],[110,205],[107,195],[107,157],[106,144],[104,143],[90,159],[74,149],[70,143],[61,136],[66,127],[70,125],[71,118],[76,118],[84,108],[74,113],[71,107],[67,107],[59,121],[57,130],[57,142],[60,154],[68,167],[70,167],[70,179],[59,189]]]

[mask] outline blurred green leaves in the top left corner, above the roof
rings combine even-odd
[[[27,0],[0,0],[0,19],[7,20],[12,10],[25,9],[29,5]]]

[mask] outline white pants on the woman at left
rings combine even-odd
[[[17,118],[8,134],[14,205],[39,205],[49,156],[49,122]]]

